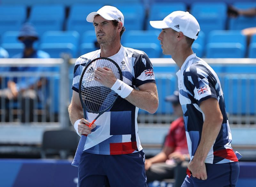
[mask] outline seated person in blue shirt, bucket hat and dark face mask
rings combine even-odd
[[[50,58],[50,55],[44,51],[36,50],[33,44],[38,40],[38,33],[34,26],[25,23],[18,35],[18,39],[24,44],[24,50],[12,58]],[[3,68],[0,70],[3,71]],[[9,72],[43,72],[42,67],[6,67],[4,71]],[[18,76],[5,77],[6,87],[0,90],[0,106],[5,108],[5,121],[10,121],[10,101],[21,108],[21,122],[32,122],[34,103],[39,99],[40,87],[46,83],[40,76]],[[42,95],[42,94],[41,94]],[[4,102],[3,102],[4,101]],[[2,104],[3,102],[3,104]]]

